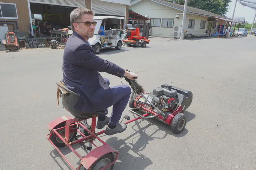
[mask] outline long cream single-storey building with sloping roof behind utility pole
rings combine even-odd
[[[181,28],[184,5],[162,0],[135,0],[130,3],[129,9],[151,19],[151,36],[174,38],[177,35],[174,27]],[[185,30],[196,37],[207,36],[206,30],[209,30],[208,35],[219,32],[220,23],[226,30],[228,21],[236,22],[221,15],[188,7]]]

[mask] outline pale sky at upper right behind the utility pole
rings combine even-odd
[[[234,10],[234,6],[235,6],[235,0],[232,0],[229,3],[229,10],[226,13],[227,17],[232,18],[232,14],[233,14],[233,10]],[[245,20],[249,23],[253,22],[253,18],[255,15],[255,10],[247,7],[247,6],[243,6],[241,5],[238,1],[236,3],[236,8],[235,8],[235,14],[234,17],[245,17]],[[255,19],[256,20],[256,19]],[[254,21],[255,22],[255,21]]]

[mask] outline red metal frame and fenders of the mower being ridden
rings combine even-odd
[[[136,102],[134,102],[134,105]],[[139,105],[138,107],[136,106],[136,108],[131,108],[131,112],[133,112],[132,110],[143,110],[145,112],[148,112],[146,114],[143,115],[139,115],[137,118],[128,120],[126,122],[124,122],[125,124],[134,122],[136,120],[139,119],[147,119],[147,118],[157,118],[157,119],[161,119],[163,120],[166,124],[171,125],[172,119],[174,118],[175,115],[177,115],[178,113],[182,113],[183,109],[182,106],[179,106],[178,109],[176,111],[174,111],[172,114],[169,114],[167,116],[167,118],[163,118],[161,115],[156,114],[154,111],[152,111],[152,109],[148,109],[142,105]],[[137,114],[137,113],[136,113]],[[138,114],[137,114],[138,115]],[[101,135],[105,132],[105,130],[102,130],[100,132],[96,133],[96,116],[91,117],[92,118],[92,125],[91,125],[91,130],[89,130],[86,126],[84,126],[80,121],[82,120],[78,120],[77,118],[71,118],[69,116],[63,116],[63,117],[59,117],[55,120],[53,120],[49,125],[48,125],[48,129],[50,130],[50,133],[48,133],[46,135],[46,138],[50,141],[50,143],[54,146],[54,148],[60,153],[60,155],[64,158],[64,160],[68,163],[68,165],[73,169],[76,170],[76,168],[74,168],[73,165],[71,165],[71,163],[67,160],[67,158],[61,153],[61,151],[58,149],[58,147],[51,141],[51,136],[52,135],[57,135],[65,144],[65,147],[68,147],[81,161],[80,164],[77,168],[77,170],[79,170],[82,166],[84,166],[87,170],[91,170],[92,165],[98,160],[100,159],[102,156],[104,156],[105,154],[108,153],[114,153],[116,155],[116,158],[113,162],[111,162],[111,164],[101,168],[100,170],[105,170],[107,167],[115,164],[115,162],[117,161],[118,158],[118,154],[119,152],[116,151],[114,148],[112,148],[111,146],[107,145],[103,140],[101,140],[98,135]],[[90,119],[90,118],[88,118]],[[87,120],[87,119],[84,119]],[[60,123],[65,122],[65,126],[64,127],[60,127],[60,128],[56,128],[56,126],[58,126]],[[78,127],[77,127],[78,125]],[[73,126],[75,126],[75,128],[72,128]],[[79,131],[79,126],[83,127],[88,133],[90,133],[89,136],[85,136],[81,131]],[[60,134],[58,133],[58,130],[65,128],[65,134]],[[77,140],[73,140],[73,141],[69,141],[69,134],[71,132],[77,131],[80,135],[82,135],[83,137]],[[63,138],[63,136],[65,135],[65,137]],[[98,147],[93,143],[93,140],[97,139],[99,140],[103,145]],[[81,143],[83,141],[85,141],[85,143],[90,142],[91,144],[93,144],[96,148],[94,150],[92,150],[91,152],[89,152],[85,157],[82,157],[81,155],[79,155],[73,148],[72,145],[74,144],[78,144]]]

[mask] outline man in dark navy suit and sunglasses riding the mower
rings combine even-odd
[[[98,115],[97,128],[106,127],[105,134],[113,135],[123,132],[126,124],[119,123],[121,115],[129,101],[131,89],[126,85],[109,87],[108,79],[99,72],[107,72],[118,77],[130,79],[137,77],[120,66],[95,55],[88,42],[94,35],[96,22],[94,12],[87,8],[76,8],[70,13],[73,34],[68,38],[63,56],[63,83],[78,93],[75,109],[85,112],[106,110],[113,106],[110,117]]]

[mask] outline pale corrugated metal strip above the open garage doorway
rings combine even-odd
[[[85,0],[30,0],[33,3],[85,7]]]

